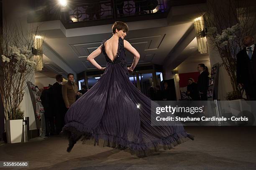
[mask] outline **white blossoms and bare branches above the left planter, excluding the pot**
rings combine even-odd
[[[27,49],[27,46],[21,48],[8,46],[5,53],[0,56],[0,59],[3,61],[1,64],[1,66],[3,66],[3,74],[6,77],[4,86],[1,89],[1,93],[3,93],[2,97],[7,99],[7,102],[4,103],[5,119],[14,119],[13,114],[11,114],[11,108],[19,107],[19,103],[22,101],[24,95],[23,89],[26,86],[24,82],[26,82],[29,75],[33,74],[36,68],[33,54]],[[12,77],[12,79],[10,77]],[[21,80],[22,86],[17,86],[17,83],[20,82],[18,79]],[[11,92],[6,92],[8,89],[11,89]],[[15,94],[13,91],[15,91]],[[9,93],[12,93],[12,96],[8,96]],[[16,100],[17,98],[15,98],[15,96],[20,96],[20,98]],[[13,100],[16,101],[11,102]],[[13,103],[13,105],[10,105],[10,103]]]

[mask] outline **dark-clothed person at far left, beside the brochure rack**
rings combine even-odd
[[[45,89],[41,94],[41,101],[44,107],[45,127],[46,136],[54,134],[54,99],[53,99],[53,88],[49,84],[48,89]]]

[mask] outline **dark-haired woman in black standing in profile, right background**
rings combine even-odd
[[[197,66],[197,71],[200,72],[197,81],[197,90],[199,92],[199,100],[206,101],[207,100],[207,90],[208,90],[208,82],[209,82],[209,71],[205,64],[200,63]]]

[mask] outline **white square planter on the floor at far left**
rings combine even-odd
[[[21,142],[23,119],[7,120],[5,122],[6,137],[8,143]]]

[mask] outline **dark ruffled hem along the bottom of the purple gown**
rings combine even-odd
[[[61,134],[75,143],[81,140],[83,144],[121,149],[139,157],[145,157],[160,149],[170,150],[189,139],[194,140],[192,134],[182,131],[151,142],[135,143],[110,134],[98,134],[93,129],[82,126],[79,122],[69,122],[63,127]]]

